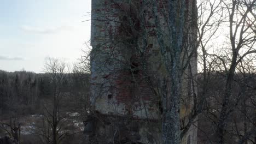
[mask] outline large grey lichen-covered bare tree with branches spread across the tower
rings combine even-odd
[[[181,134],[179,112],[183,105],[181,100],[185,95],[183,90],[187,87],[182,84],[186,80],[191,81],[191,74],[194,76],[196,73],[195,65],[191,62],[196,62],[196,1],[189,4],[192,6],[188,10],[188,5],[183,0],[110,1],[104,7],[115,10],[102,13],[104,15],[92,15],[92,21],[106,22],[108,28],[102,39],[98,38],[97,41],[97,38],[92,38],[92,43],[98,42],[97,45],[94,43],[92,49],[92,77],[101,72],[106,74],[106,79],[94,86],[98,88],[98,96],[92,100],[92,105],[95,104],[97,97],[101,97],[102,93],[108,93],[110,88],[122,87],[111,83],[112,80],[131,80],[133,83],[130,87],[139,87],[143,85],[141,81],[146,82],[150,88],[147,90],[150,94],[153,93],[155,104],[159,106],[164,143],[180,143],[184,133],[193,123],[184,127],[184,133]],[[116,16],[117,11],[119,16]],[[100,32],[98,35],[101,35]],[[155,57],[152,56],[154,54]],[[148,57],[153,60],[150,61]],[[150,71],[152,65],[158,64],[156,61],[160,63],[159,67],[164,72]],[[115,73],[121,69],[125,71],[122,77]],[[130,74],[126,71],[130,71]],[[189,85],[187,88],[195,95],[196,90],[191,87],[194,86]],[[133,93],[136,95],[136,92]],[[136,96],[135,99],[141,102],[141,107],[144,106],[142,111],[147,113],[145,101],[141,96]]]

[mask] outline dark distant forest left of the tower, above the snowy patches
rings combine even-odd
[[[66,105],[72,105],[73,100],[75,102],[73,108],[83,107],[88,96],[89,75],[74,73],[64,75],[60,91],[68,96]],[[42,113],[43,104],[54,94],[53,85],[50,74],[28,71],[11,73],[0,70],[0,115]]]

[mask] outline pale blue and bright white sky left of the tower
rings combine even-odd
[[[73,64],[86,49],[91,0],[0,2],[1,70],[42,73],[47,57]]]

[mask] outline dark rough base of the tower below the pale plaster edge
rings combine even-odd
[[[95,113],[91,120],[94,131],[85,131],[91,143],[160,143],[158,121],[101,113]]]

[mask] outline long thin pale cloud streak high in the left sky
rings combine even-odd
[[[60,27],[33,27],[33,26],[21,26],[20,27],[24,32],[36,33],[36,34],[52,34],[58,33],[61,31],[70,31],[73,29],[72,26],[60,26]]]

